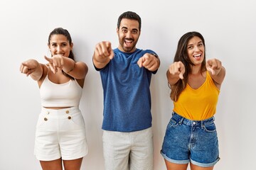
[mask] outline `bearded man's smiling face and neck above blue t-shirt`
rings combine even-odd
[[[119,38],[118,49],[122,52],[134,52],[140,35],[139,22],[123,18],[117,28],[117,35]]]

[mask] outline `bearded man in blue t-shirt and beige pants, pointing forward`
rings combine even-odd
[[[93,55],[104,91],[106,170],[154,169],[149,86],[160,60],[156,52],[136,48],[141,26],[137,13],[122,13],[117,22],[119,46],[112,50],[110,42],[99,42]]]

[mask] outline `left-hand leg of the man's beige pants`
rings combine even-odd
[[[105,169],[128,169],[131,146],[129,142],[129,133],[104,130],[102,140]]]

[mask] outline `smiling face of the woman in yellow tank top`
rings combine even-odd
[[[195,65],[201,64],[205,55],[205,47],[201,38],[194,36],[188,41],[187,45],[188,57]]]

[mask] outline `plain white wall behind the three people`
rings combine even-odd
[[[80,109],[85,118],[89,154],[82,169],[104,169],[102,157],[102,86],[92,65],[97,42],[109,40],[117,47],[117,18],[135,11],[142,18],[138,48],[157,52],[161,66],[151,80],[154,131],[154,166],[166,169],[160,155],[173,104],[166,70],[174,59],[178,39],[196,30],[206,39],[206,57],[218,58],[227,70],[221,88],[215,123],[220,162],[217,170],[254,169],[255,38],[253,0],[181,1],[0,1],[0,169],[41,169],[33,155],[34,133],[41,101],[36,81],[19,72],[21,62],[50,56],[48,34],[53,28],[69,30],[76,60],[86,62]]]

